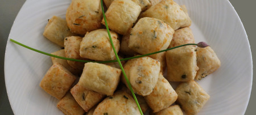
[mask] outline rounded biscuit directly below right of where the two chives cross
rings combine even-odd
[[[150,57],[141,57],[130,59],[123,66],[131,87],[138,95],[149,95],[156,82],[160,72],[160,62]],[[122,82],[126,84],[125,76],[122,75]]]

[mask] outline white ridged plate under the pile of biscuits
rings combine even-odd
[[[11,28],[9,39],[51,53],[60,49],[43,37],[47,19],[65,18],[70,0],[27,0]],[[249,41],[228,0],[179,0],[192,19],[196,42],[206,41],[221,60],[221,67],[199,81],[210,100],[199,114],[244,114],[250,98],[253,65]],[[63,114],[57,99],[39,83],[52,65],[48,56],[8,41],[5,82],[14,114]]]

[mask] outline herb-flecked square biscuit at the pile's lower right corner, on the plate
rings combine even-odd
[[[197,114],[210,98],[195,80],[180,83],[175,91],[178,95],[177,103],[187,114]]]

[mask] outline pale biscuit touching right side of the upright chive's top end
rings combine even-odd
[[[141,7],[131,0],[115,0],[106,11],[106,20],[109,28],[124,35],[136,22]],[[105,25],[105,20],[102,19]]]

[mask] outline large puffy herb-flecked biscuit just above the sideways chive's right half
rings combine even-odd
[[[171,43],[174,29],[168,24],[155,18],[142,18],[131,29],[129,48],[140,54],[148,54],[167,49]],[[150,55],[149,57],[161,62],[164,71],[166,60],[164,53]]]

